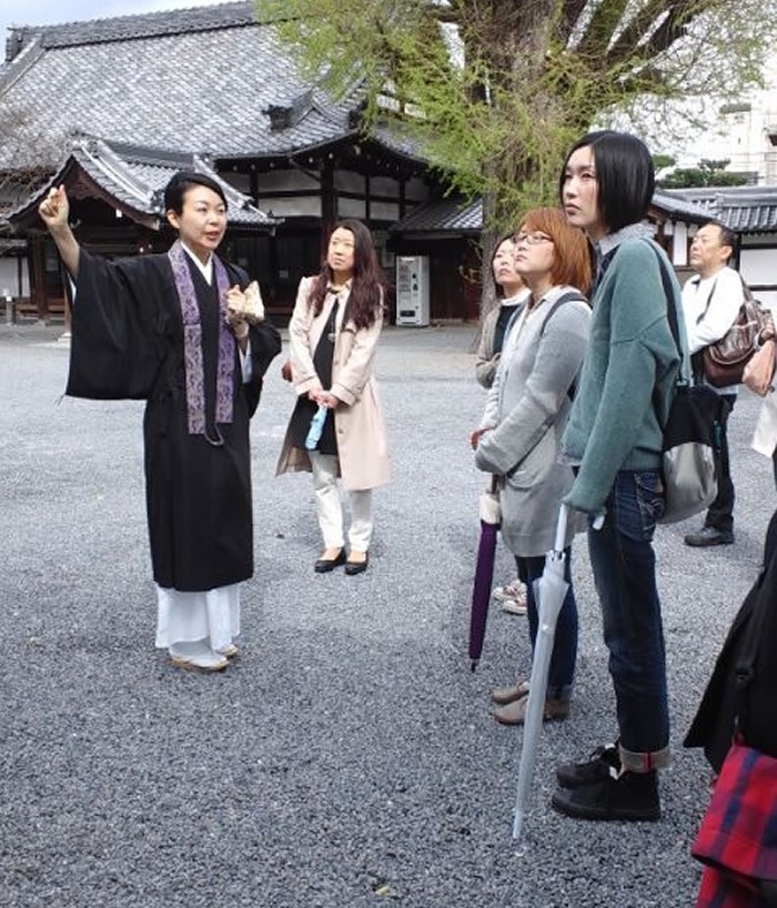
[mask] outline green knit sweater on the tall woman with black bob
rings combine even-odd
[[[563,456],[579,464],[564,501],[588,514],[604,510],[618,471],[660,465],[662,425],[679,357],[652,245],[658,249],[644,239],[624,239],[594,295],[588,347],[562,444]],[[685,350],[679,284],[660,254],[672,275]]]

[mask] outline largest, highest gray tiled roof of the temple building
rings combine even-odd
[[[73,131],[219,158],[285,155],[356,135],[357,92],[339,102],[311,92],[274,27],[255,21],[253,2],[17,33],[27,43],[0,68],[0,122],[24,119],[14,132],[26,140],[0,149],[0,168],[40,164],[51,148],[53,164]],[[291,112],[287,127],[271,128],[271,108]]]

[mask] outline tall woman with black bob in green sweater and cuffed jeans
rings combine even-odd
[[[667,306],[682,309],[672,265],[642,223],[653,189],[647,148],[610,131],[573,147],[559,184],[567,220],[587,234],[596,264],[588,347],[562,442],[576,474],[565,502],[589,515],[619,733],[593,759],[557,769],[554,807],[586,819],[658,819],[656,769],[669,761],[653,534],[664,511],[662,426],[679,365]]]

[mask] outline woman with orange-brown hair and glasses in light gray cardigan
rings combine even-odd
[[[505,339],[480,428],[472,434],[475,464],[500,477],[502,536],[526,584],[532,645],[537,634],[533,582],[553,547],[561,501],[573,473],[558,463],[574,382],[585,355],[591,310],[583,293],[591,283],[583,233],[558,209],[531,211],[515,236],[515,265],[531,290]],[[556,626],[545,718],[569,715],[577,658],[577,605],[569,573],[569,549],[577,529],[569,522],[566,581],[569,584]],[[528,673],[526,673],[526,676]],[[497,722],[524,722],[528,683],[519,679],[492,694]]]

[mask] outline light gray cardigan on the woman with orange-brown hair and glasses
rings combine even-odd
[[[591,310],[582,301],[562,303],[542,331],[553,303],[571,290],[553,287],[514,323],[481,421],[490,431],[475,452],[478,470],[501,477],[502,536],[523,557],[553,547],[561,501],[573,483],[558,452]],[[569,519],[567,545],[581,528],[577,517]]]

